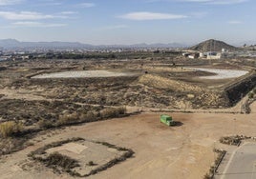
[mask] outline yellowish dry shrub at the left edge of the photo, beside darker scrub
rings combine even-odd
[[[0,124],[0,133],[3,138],[10,137],[13,133],[19,132],[23,129],[21,123],[8,121]]]

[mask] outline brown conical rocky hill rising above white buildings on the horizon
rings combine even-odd
[[[229,50],[229,51],[239,50],[239,48],[228,45],[223,41],[218,41],[214,39],[206,40],[196,46],[191,47],[189,50],[199,50],[199,51],[206,52],[206,51],[221,51],[222,49]]]

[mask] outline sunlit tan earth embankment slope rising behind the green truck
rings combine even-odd
[[[158,99],[157,101],[154,100],[155,104],[163,104],[163,101],[169,99],[168,105],[172,104],[178,108],[184,108],[183,101],[186,101],[187,105],[193,108],[219,108],[220,106],[228,106],[222,93],[210,89],[203,89],[182,81],[146,74],[139,77],[139,83],[148,88],[155,89],[155,92],[147,91],[148,95]],[[156,89],[159,89],[159,92]]]

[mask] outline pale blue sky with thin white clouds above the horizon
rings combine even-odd
[[[93,45],[256,42],[255,0],[0,0],[0,39]]]

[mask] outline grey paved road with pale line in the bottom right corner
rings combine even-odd
[[[235,149],[218,179],[256,179],[256,143],[247,142]]]

